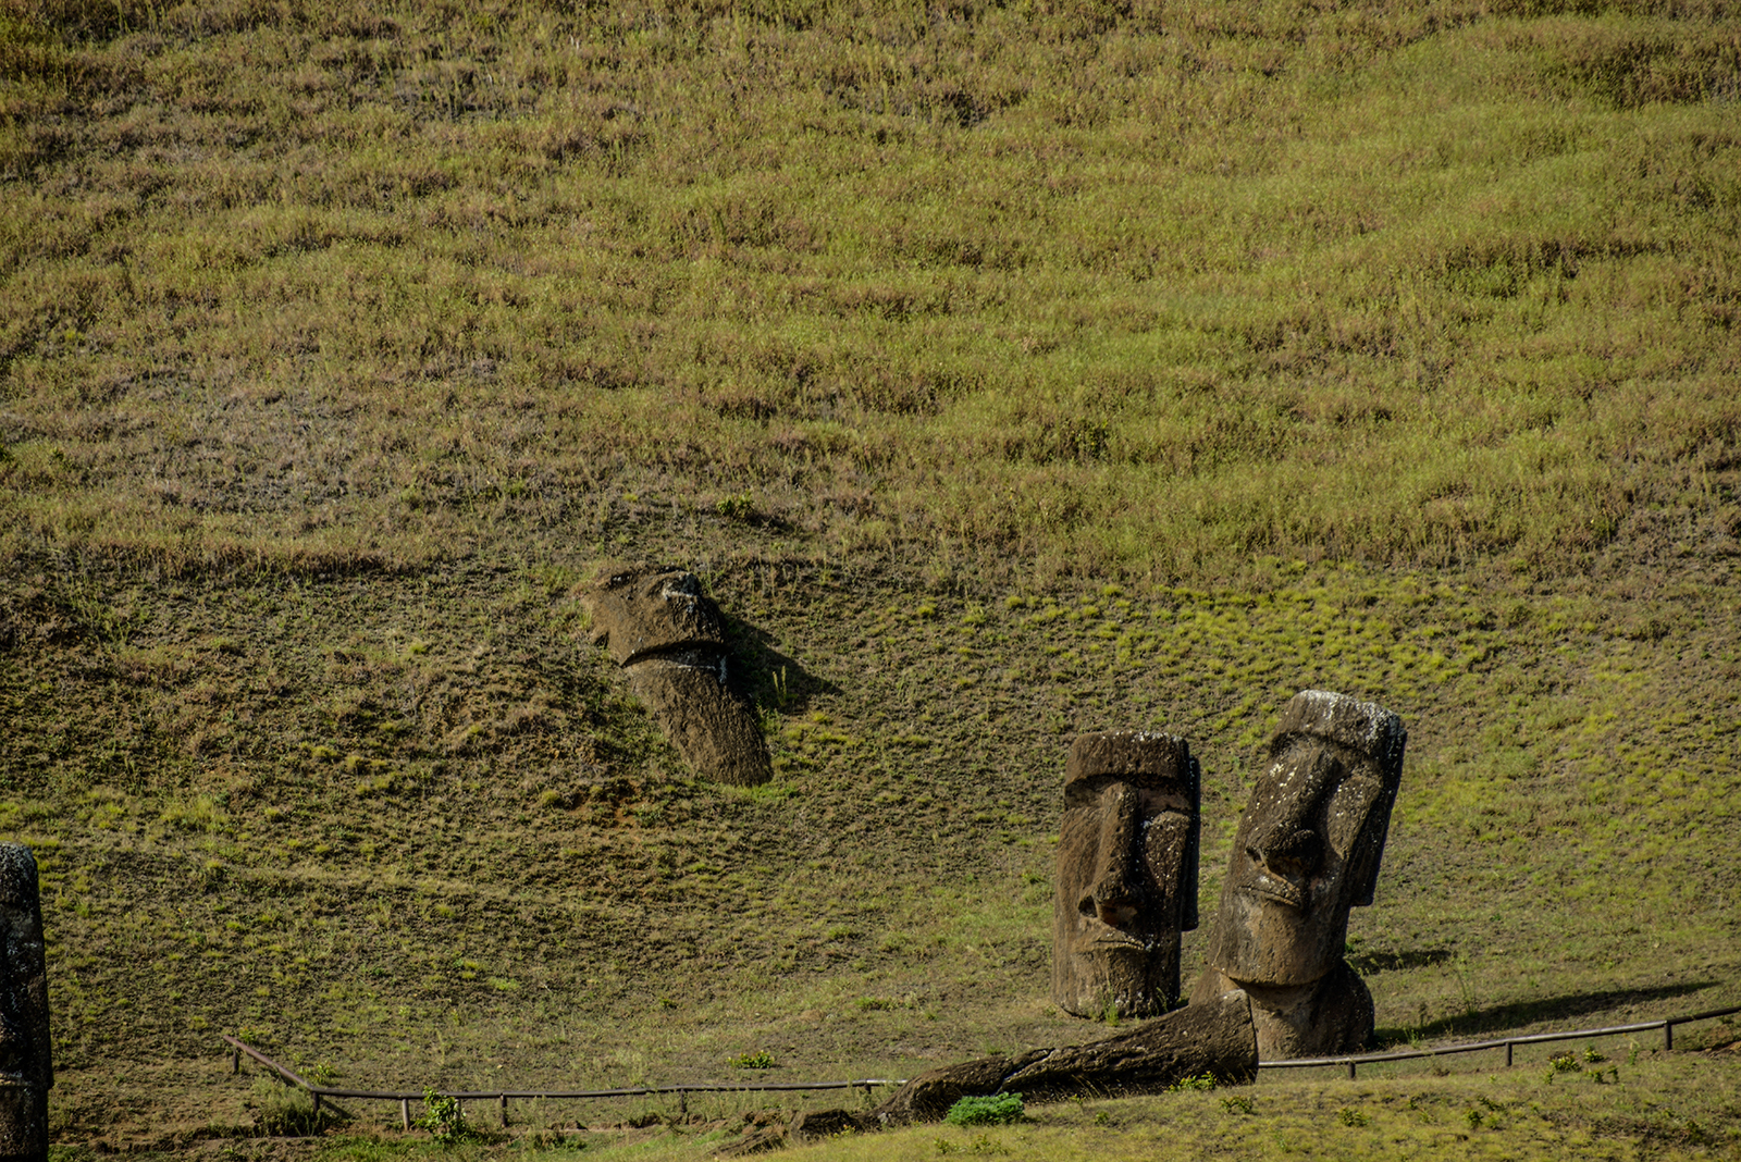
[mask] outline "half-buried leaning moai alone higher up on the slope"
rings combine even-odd
[[[726,675],[726,626],[693,572],[637,567],[613,572],[587,595],[592,642],[629,671],[695,772],[754,786],[773,778],[768,743]]]

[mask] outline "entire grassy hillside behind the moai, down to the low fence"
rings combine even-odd
[[[1738,97],[1697,3],[0,0],[64,1150],[270,1124],[233,1030],[359,1085],[1083,1038],[1069,738],[1191,739],[1212,915],[1309,685],[1410,729],[1382,1038],[1732,1004]],[[585,645],[623,558],[735,618],[771,786]],[[1701,1061],[1499,1103],[1732,1148]]]

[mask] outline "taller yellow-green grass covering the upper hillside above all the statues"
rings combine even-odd
[[[1734,456],[1718,9],[9,12],[12,553],[1562,572]]]

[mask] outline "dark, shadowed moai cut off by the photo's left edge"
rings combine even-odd
[[[37,859],[0,844],[0,1162],[47,1160],[52,1084]]]

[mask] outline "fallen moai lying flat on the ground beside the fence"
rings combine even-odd
[[[1128,1033],[1015,1056],[980,1058],[914,1077],[870,1113],[820,1110],[792,1122],[792,1138],[827,1138],[844,1129],[940,1122],[961,1098],[1022,1094],[1024,1101],[1154,1094],[1208,1073],[1217,1085],[1257,1077],[1257,1033],[1245,993],[1177,1009]]]

